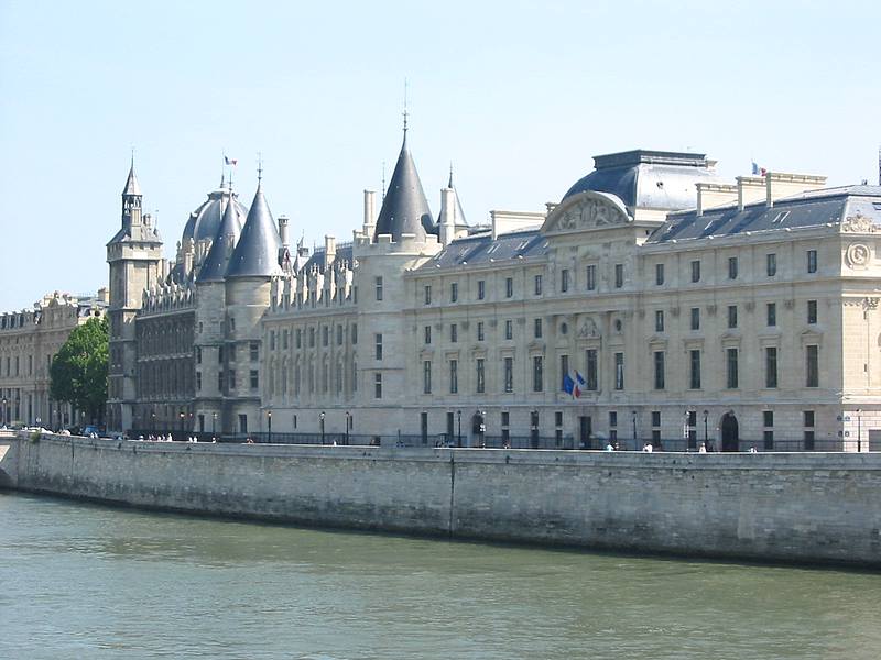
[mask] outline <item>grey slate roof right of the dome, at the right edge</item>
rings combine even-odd
[[[695,210],[671,213],[646,243],[818,227],[840,222],[857,212],[881,224],[881,187],[826,188],[777,199],[772,207],[764,201],[750,204],[742,211],[732,205],[706,210],[703,216]]]

